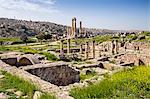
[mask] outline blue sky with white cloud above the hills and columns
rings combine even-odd
[[[150,0],[0,0],[0,17],[85,27],[150,30]]]

